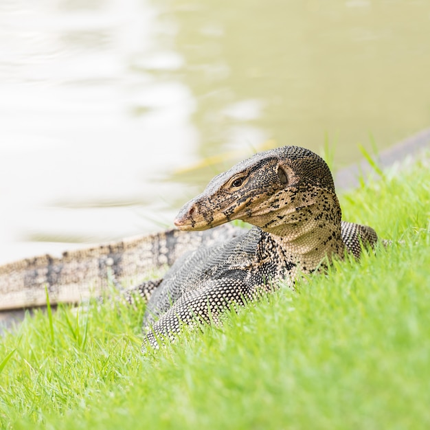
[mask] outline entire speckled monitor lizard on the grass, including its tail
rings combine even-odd
[[[255,227],[223,225],[235,219]],[[45,286],[52,303],[78,302],[100,293],[109,269],[123,281],[172,265],[163,279],[132,288],[148,299],[144,332],[156,346],[155,335],[172,335],[195,317],[217,321],[232,302],[245,304],[278,280],[293,286],[297,273],[319,271],[346,251],[359,257],[361,242],[377,240],[370,227],[341,221],[328,166],[296,146],[260,152],[219,174],[175,224],[179,230],[5,264],[0,306],[45,304]]]

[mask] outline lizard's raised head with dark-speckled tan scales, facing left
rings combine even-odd
[[[282,226],[302,222],[315,205],[326,209],[334,205],[340,225],[340,207],[326,162],[308,149],[283,146],[259,152],[218,174],[181,208],[174,224],[191,231],[240,219],[282,234]]]

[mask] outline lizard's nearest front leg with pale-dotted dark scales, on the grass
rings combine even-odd
[[[195,326],[201,322],[219,323],[219,314],[235,304],[245,306],[253,295],[243,282],[230,278],[212,280],[199,290],[188,291],[172,307],[155,321],[152,327],[145,327],[145,339],[142,350],[148,344],[158,348],[158,337],[168,336],[170,339],[181,331],[181,326]]]

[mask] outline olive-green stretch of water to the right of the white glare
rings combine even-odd
[[[310,148],[328,133],[343,162],[357,157],[359,142],[368,146],[369,133],[383,147],[429,122],[428,2],[173,4],[166,19],[181,23],[183,79],[212,148],[244,144],[223,113],[246,100],[263,106],[247,124]]]

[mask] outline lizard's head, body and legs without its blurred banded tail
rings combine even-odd
[[[280,280],[293,287],[299,273],[324,270],[347,252],[359,258],[361,244],[377,241],[372,228],[341,221],[326,162],[297,146],[260,152],[218,174],[174,224],[199,231],[231,220],[254,227],[174,262],[150,295],[145,343],[157,346],[157,337],[174,336],[182,324],[217,322],[226,307],[245,305]],[[144,285],[140,292],[147,295]]]

